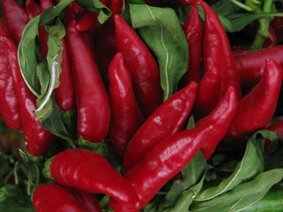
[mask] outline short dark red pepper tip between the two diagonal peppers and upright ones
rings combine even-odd
[[[220,100],[221,78],[218,70],[212,68],[203,75],[199,83],[193,114],[198,120],[210,114]]]

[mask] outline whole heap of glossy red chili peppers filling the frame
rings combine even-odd
[[[0,114],[23,134],[21,156],[45,163],[48,180],[31,192],[36,211],[103,211],[103,195],[114,211],[139,211],[181,178],[199,151],[209,161],[219,147],[244,149],[258,130],[283,135],[276,117],[283,116],[283,46],[234,50],[208,1],[146,1],[141,5],[149,9],[189,8],[180,23],[187,70],[165,95],[157,49],[132,26],[129,3],[94,1],[109,14],[101,23],[90,2],[1,1]],[[64,33],[52,34],[55,27]],[[27,49],[34,58],[26,60]],[[58,142],[65,148],[51,155]],[[265,141],[265,148],[271,145]],[[104,155],[106,148],[114,159]]]

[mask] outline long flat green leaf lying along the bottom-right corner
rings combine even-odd
[[[264,197],[273,185],[283,178],[283,169],[259,173],[253,180],[233,188],[232,191],[217,196],[210,201],[196,202],[189,211],[227,211],[236,212],[256,203]]]

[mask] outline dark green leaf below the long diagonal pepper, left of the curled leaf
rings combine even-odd
[[[172,183],[169,192],[165,196],[168,203],[173,206],[180,196],[183,195],[182,193],[191,193],[192,191],[195,191],[194,189],[189,188],[198,183],[201,178],[204,178],[203,176],[207,168],[207,163],[203,158],[202,153],[198,152],[193,160],[188,163],[183,170],[181,170],[182,178],[176,179]],[[187,189],[191,192],[187,192]]]

